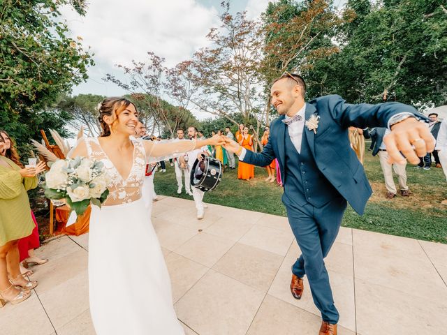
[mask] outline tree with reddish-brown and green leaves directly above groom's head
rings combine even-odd
[[[300,73],[307,82],[307,96],[321,93],[325,72],[315,71],[315,64],[339,52],[332,42],[339,27],[349,17],[340,17],[332,1],[280,0],[269,3],[263,13],[265,46],[261,68],[270,83],[284,71]],[[269,87],[270,88],[270,87]],[[269,108],[269,101],[265,109]]]

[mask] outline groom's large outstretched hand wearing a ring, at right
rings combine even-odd
[[[388,162],[404,164],[405,158],[413,164],[419,163],[419,157],[434,150],[435,140],[427,124],[409,117],[394,126],[391,133],[383,137],[388,151]],[[405,156],[402,157],[402,154]]]

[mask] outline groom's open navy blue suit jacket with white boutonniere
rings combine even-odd
[[[372,190],[355,152],[351,149],[348,137],[349,126],[356,128],[386,127],[395,114],[416,110],[402,103],[381,103],[353,105],[346,103],[341,96],[331,95],[316,98],[306,103],[305,119],[312,114],[320,117],[316,134],[305,126],[305,136],[318,169],[337,188],[337,191],[351,204],[358,214],[363,214]],[[270,139],[261,153],[247,150],[244,163],[258,166],[269,165],[278,159],[281,177],[285,180],[286,125],[278,117],[270,125]],[[325,190],[321,190],[324,192]]]

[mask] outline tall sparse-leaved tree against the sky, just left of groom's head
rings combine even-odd
[[[237,121],[231,115],[240,113],[244,123],[255,125],[252,130],[257,134],[264,119],[260,105],[263,81],[258,72],[263,42],[260,22],[248,20],[245,12],[231,15],[228,1],[222,6],[221,26],[207,34],[212,45],[193,55],[191,77],[196,94],[190,100],[198,109],[226,117],[233,124]]]

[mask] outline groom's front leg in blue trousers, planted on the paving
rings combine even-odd
[[[338,322],[339,314],[334,305],[328,271],[323,262],[320,228],[314,217],[317,210],[310,204],[302,207],[302,210],[287,208],[288,221],[300,246],[302,252],[300,258],[304,263],[304,271],[300,271],[300,258],[298,258],[293,265],[293,274],[307,275],[314,304],[321,311],[323,321],[335,324]]]

